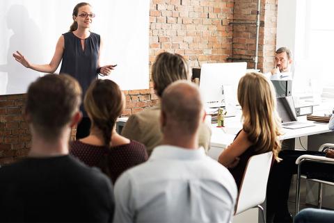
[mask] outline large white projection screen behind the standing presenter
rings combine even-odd
[[[31,63],[48,64],[56,42],[72,24],[72,10],[80,1],[0,1],[0,94],[25,93],[39,72],[17,63],[12,54],[20,51]],[[149,88],[150,0],[95,0],[90,31],[104,42],[102,65],[117,67],[108,79],[122,90]],[[61,65],[57,69],[59,72]]]

